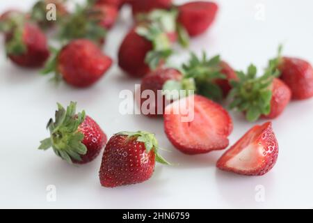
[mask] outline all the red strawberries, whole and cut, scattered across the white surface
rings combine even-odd
[[[57,20],[46,19],[50,3],[57,8]],[[6,54],[17,66],[43,68],[44,74],[54,72],[56,81],[78,88],[91,86],[113,64],[101,47],[124,5],[132,8],[134,26],[120,45],[118,66],[126,75],[142,78],[141,93],[154,93],[155,103],[144,114],[163,116],[166,136],[182,153],[209,153],[229,146],[232,118],[220,102],[227,102],[227,107],[254,122],[277,118],[291,100],[313,97],[312,66],[303,59],[282,56],[282,47],[262,75],[257,75],[254,65],[246,72],[235,71],[220,56],[207,58],[205,52],[202,56],[191,53],[181,68],[168,66],[173,45],[188,47],[190,38],[206,32],[214,22],[218,5],[209,1],[176,6],[172,0],[89,0],[70,12],[63,0],[40,0],[28,13],[8,10],[1,15]],[[48,47],[46,33],[51,30],[59,49]],[[173,90],[192,93],[174,97]],[[157,103],[160,91],[161,104]],[[147,100],[151,98],[136,102],[142,108]],[[52,148],[69,163],[85,164],[105,147],[99,170],[104,187],[141,183],[152,176],[155,162],[170,164],[159,154],[161,147],[154,134],[118,132],[108,141],[93,118],[84,111],[77,113],[76,106],[71,102],[65,109],[58,104],[55,118],[47,125],[50,136],[41,141],[41,150]],[[277,159],[278,141],[271,122],[266,122],[248,130],[220,157],[216,167],[260,176],[270,171]]]

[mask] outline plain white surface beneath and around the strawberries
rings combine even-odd
[[[0,11],[15,6],[28,8],[33,1],[0,1]],[[279,43],[284,54],[313,62],[313,2],[218,1],[218,20],[209,33],[192,40],[191,49],[209,55],[221,54],[236,69],[254,62],[266,66]],[[255,19],[258,3],[265,6],[265,20]],[[127,14],[127,12],[125,12]],[[123,15],[109,34],[105,52],[116,61],[117,49],[129,18]],[[262,177],[245,177],[218,171],[215,163],[223,153],[188,156],[175,150],[163,133],[163,122],[144,116],[121,116],[118,94],[134,89],[138,80],[129,79],[115,65],[90,89],[54,86],[36,70],[13,66],[0,58],[0,208],[313,208],[313,100],[293,102],[273,128],[280,144],[274,169]],[[187,58],[187,52],[176,61]],[[111,137],[120,130],[155,132],[163,152],[179,166],[157,164],[154,176],[145,183],[108,189],[99,184],[97,160],[81,167],[70,166],[53,151],[38,151],[47,137],[45,125],[54,115],[56,102],[78,102]],[[231,144],[252,124],[234,115]],[[263,121],[261,121],[263,122]],[[47,185],[56,185],[56,202],[47,202]],[[255,187],[264,185],[265,202],[255,201]]]

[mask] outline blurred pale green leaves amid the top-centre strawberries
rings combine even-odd
[[[188,34],[182,26],[177,26],[177,10],[153,10],[147,15],[140,15],[141,25],[136,32],[152,42],[153,49],[147,53],[145,63],[155,70],[161,60],[172,54],[169,33],[178,33],[179,43],[188,46]]]

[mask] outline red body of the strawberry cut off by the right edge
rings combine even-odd
[[[305,100],[313,97],[313,68],[302,59],[283,57],[278,66],[280,79],[289,86],[292,99]]]

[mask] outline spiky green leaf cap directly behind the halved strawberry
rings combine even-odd
[[[216,79],[226,78],[221,72],[220,62],[220,56],[207,59],[205,52],[203,52],[202,58],[191,53],[191,59],[182,66],[184,78],[195,80],[196,93],[211,100],[222,100],[223,91],[215,83]]]

